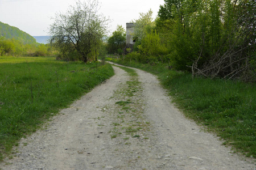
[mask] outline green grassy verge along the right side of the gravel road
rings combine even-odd
[[[255,84],[222,79],[195,78],[188,73],[168,70],[164,65],[142,65],[117,61],[159,77],[177,107],[184,114],[214,131],[239,151],[256,158]]]

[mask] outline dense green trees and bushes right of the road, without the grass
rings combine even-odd
[[[255,82],[255,6],[253,0],[164,0],[155,20],[149,10],[132,21],[135,44],[119,58],[163,63],[193,76]]]

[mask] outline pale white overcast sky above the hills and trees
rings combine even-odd
[[[81,0],[86,1],[86,0]],[[112,19],[110,32],[117,24],[126,28],[126,23],[139,18],[139,13],[146,13],[150,8],[153,16],[158,14],[164,0],[98,0],[100,12]],[[32,36],[46,36],[49,25],[56,12],[65,12],[76,0],[0,0],[0,22],[18,27]]]

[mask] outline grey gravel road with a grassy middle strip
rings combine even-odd
[[[0,168],[255,169],[187,120],[155,76],[114,70],[45,129],[22,139]]]

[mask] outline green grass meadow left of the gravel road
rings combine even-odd
[[[110,65],[0,57],[0,160],[59,109],[114,75]]]

